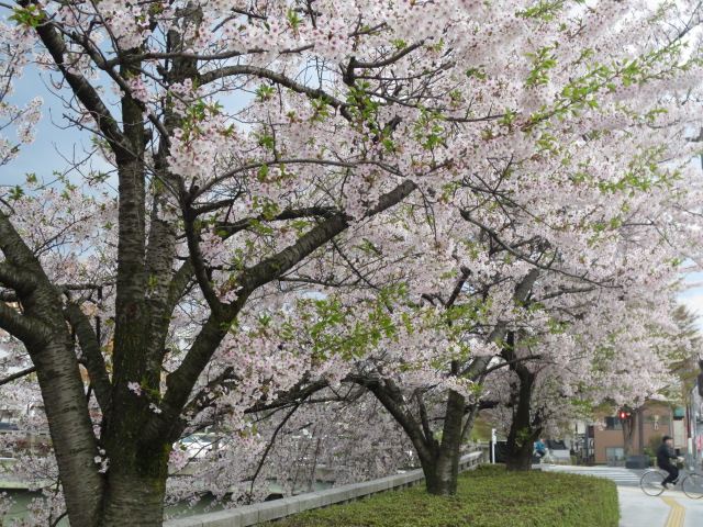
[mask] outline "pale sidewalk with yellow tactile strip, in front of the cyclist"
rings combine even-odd
[[[620,527],[701,527],[703,498],[691,500],[680,491],[648,496],[638,486],[618,486]]]

